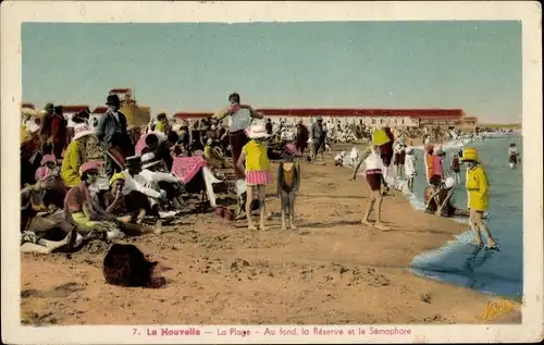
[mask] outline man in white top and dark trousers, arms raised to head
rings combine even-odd
[[[213,114],[212,119],[223,120],[230,116],[228,138],[231,141],[234,172],[236,174],[236,180],[244,180],[245,172],[239,170],[236,162],[242,155],[242,148],[248,143],[246,130],[251,125],[252,119],[262,120],[263,115],[256,112],[250,106],[240,104],[240,97],[238,94],[231,94],[228,96],[228,101],[231,102],[231,107]]]

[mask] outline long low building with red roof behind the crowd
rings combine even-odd
[[[317,116],[325,122],[343,124],[419,126],[419,125],[477,125],[478,118],[467,118],[461,109],[257,109],[274,122],[313,122]],[[177,112],[174,118],[199,120],[211,112]]]

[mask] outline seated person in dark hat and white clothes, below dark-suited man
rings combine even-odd
[[[125,204],[134,202],[126,207],[145,210],[136,221],[138,224],[141,224],[146,215],[160,217],[159,212],[162,212],[163,205],[168,202],[166,192],[161,190],[156,182],[140,175],[141,171],[141,158],[133,156],[126,159],[126,169],[121,172],[125,177],[122,189]]]

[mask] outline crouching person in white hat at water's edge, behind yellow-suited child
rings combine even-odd
[[[455,194],[455,178],[446,177],[444,183],[441,183],[440,176],[431,178],[432,185],[425,187],[424,200],[425,212],[438,214],[441,217],[469,217],[469,210],[458,209],[452,205],[452,197]]]

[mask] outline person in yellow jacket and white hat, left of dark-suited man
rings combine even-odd
[[[87,140],[95,134],[87,125],[74,127],[72,143],[64,151],[64,160],[61,167],[61,177],[69,187],[74,187],[82,182],[79,168],[87,160]]]

